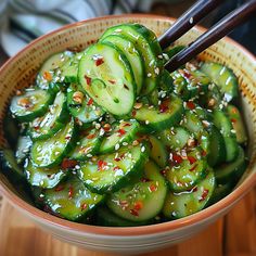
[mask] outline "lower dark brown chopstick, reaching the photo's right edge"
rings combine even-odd
[[[236,26],[244,23],[254,13],[256,13],[256,0],[251,0],[244,3],[225,16],[195,41],[190,43],[189,47],[177,53],[166,63],[165,68],[169,72],[176,71],[178,67],[231,33]]]

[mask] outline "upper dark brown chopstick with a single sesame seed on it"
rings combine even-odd
[[[171,42],[176,41],[191,27],[197,24],[209,12],[216,9],[222,0],[199,0],[187,12],[184,12],[171,27],[165,31],[158,42],[162,49],[167,48]]]

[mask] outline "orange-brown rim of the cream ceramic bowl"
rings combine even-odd
[[[8,66],[15,62],[15,60],[26,50],[31,48],[38,41],[46,39],[48,37],[53,36],[54,34],[62,33],[66,29],[73,27],[84,26],[88,23],[93,23],[98,21],[107,21],[107,20],[115,20],[115,18],[146,18],[146,20],[154,20],[154,21],[166,21],[166,22],[174,22],[176,18],[162,16],[162,15],[154,15],[154,14],[125,14],[125,15],[107,15],[101,17],[94,17],[73,24],[65,25],[56,30],[53,30],[47,35],[43,35],[36,40],[31,41],[27,44],[24,49],[22,49],[17,54],[13,57],[9,59],[0,68],[0,73],[3,72]],[[193,29],[196,29],[201,33],[204,33],[206,29],[202,26],[194,26]],[[228,43],[233,44],[234,47],[239,48],[252,62],[255,62],[256,57],[253,53],[251,53],[247,49],[242,47],[236,41],[225,37],[222,40],[227,41]],[[256,105],[256,103],[255,103]],[[255,164],[255,163],[254,163]],[[249,191],[256,184],[256,172],[252,171],[252,174],[246,177],[246,179],[234,191],[232,191],[229,195],[225,199],[220,200],[219,202],[215,203],[214,205],[196,213],[191,216],[170,220],[167,222],[150,225],[150,226],[141,226],[141,227],[101,227],[101,226],[90,226],[85,223],[77,223],[72,222],[53,215],[50,215],[41,209],[36,208],[35,206],[26,203],[23,201],[16,193],[10,190],[1,180],[0,180],[0,192],[5,196],[5,199],[16,208],[22,212],[26,212],[33,219],[36,221],[39,218],[41,221],[44,221],[48,226],[53,226],[59,229],[67,229],[68,231],[78,232],[78,233],[90,233],[94,235],[113,235],[113,236],[138,236],[138,235],[154,235],[157,233],[165,233],[171,230],[183,229],[188,226],[195,225],[196,222],[204,221],[207,218],[217,215],[222,209],[227,208],[227,205],[233,205],[236,201],[241,200],[242,196]]]

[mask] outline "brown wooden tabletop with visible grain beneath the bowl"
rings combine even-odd
[[[0,203],[1,256],[110,256],[63,243],[41,231],[4,199]],[[256,256],[256,188],[203,232],[146,256]]]

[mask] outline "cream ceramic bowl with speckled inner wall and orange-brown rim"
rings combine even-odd
[[[79,22],[46,35],[12,57],[0,71],[0,146],[5,143],[2,118],[15,90],[28,86],[42,62],[67,48],[84,49],[94,42],[110,26],[137,22],[163,34],[174,20],[154,15],[106,16]],[[188,44],[203,28],[195,27],[177,43]],[[238,188],[217,204],[192,216],[159,225],[136,228],[104,228],[74,223],[43,213],[29,203],[0,174],[0,192],[10,203],[54,236],[88,249],[142,253],[163,248],[192,236],[230,208],[256,183],[256,60],[244,48],[225,38],[201,54],[203,60],[227,64],[239,77],[244,116],[249,132],[249,166]]]

